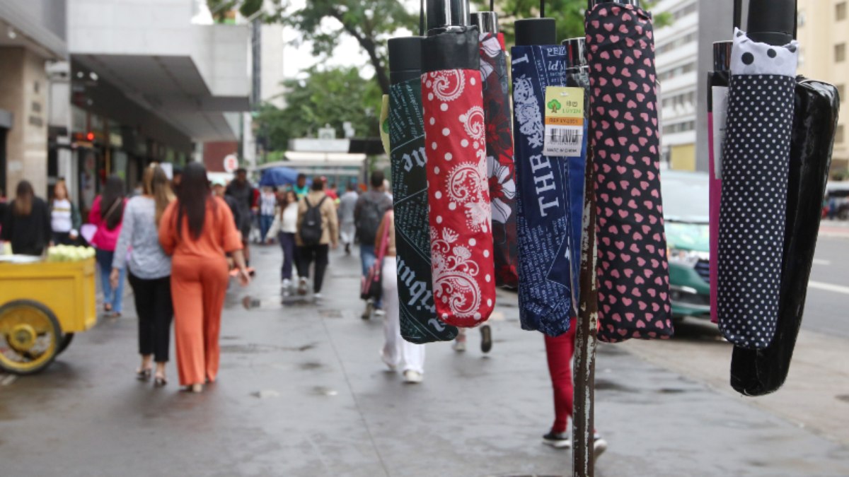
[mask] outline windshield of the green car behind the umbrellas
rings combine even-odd
[[[707,222],[708,175],[704,172],[661,172],[663,216],[667,221]]]

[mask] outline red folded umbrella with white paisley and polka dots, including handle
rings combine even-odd
[[[430,264],[437,316],[474,327],[495,306],[480,38],[468,0],[445,3],[428,2],[422,46]]]

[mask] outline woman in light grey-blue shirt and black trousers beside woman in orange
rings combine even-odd
[[[159,225],[166,207],[174,200],[168,177],[160,166],[144,170],[142,194],[127,201],[121,235],[115,244],[110,282],[117,288],[121,270],[127,268],[138,315],[138,354],[142,364],[136,371],[139,380],[148,381],[156,362],[154,385],[162,387],[166,379],[168,345],[171,339],[171,257],[159,242]],[[127,252],[132,250],[127,260]]]

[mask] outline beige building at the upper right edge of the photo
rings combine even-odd
[[[846,0],[799,0],[799,74],[828,81],[840,92],[840,122],[835,135],[831,161],[833,172],[849,171],[849,138],[846,128],[849,108],[846,84],[849,83],[849,2]]]

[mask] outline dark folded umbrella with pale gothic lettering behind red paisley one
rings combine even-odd
[[[450,341],[457,328],[436,317],[430,273],[427,151],[422,120],[420,36],[389,41],[389,138],[401,335],[411,343]]]

